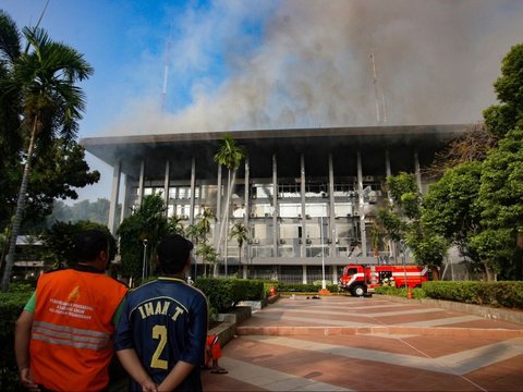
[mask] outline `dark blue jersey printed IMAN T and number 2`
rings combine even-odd
[[[207,298],[199,290],[181,279],[158,278],[127,295],[114,348],[134,348],[155,383],[179,360],[195,365],[177,391],[200,391],[207,317]],[[142,388],[132,380],[131,390]]]

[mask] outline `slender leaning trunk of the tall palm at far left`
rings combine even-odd
[[[31,133],[29,148],[27,149],[27,160],[24,166],[24,175],[22,176],[22,184],[20,185],[19,199],[16,200],[16,211],[14,212],[13,229],[11,230],[11,242],[9,244],[8,259],[5,260],[5,269],[2,277],[2,292],[9,290],[9,281],[14,266],[14,253],[16,249],[16,237],[19,236],[20,225],[22,223],[22,216],[24,213],[25,197],[27,192],[27,184],[29,183],[31,160],[33,158],[33,149],[36,138],[36,124],[38,118],[35,118],[33,123],[33,131]]]

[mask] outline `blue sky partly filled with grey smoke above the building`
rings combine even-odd
[[[48,4],[46,8],[46,3]],[[521,0],[0,0],[84,53],[78,136],[474,123]],[[112,170],[86,155],[110,198]],[[77,200],[76,200],[77,201]],[[75,203],[75,201],[71,201]]]

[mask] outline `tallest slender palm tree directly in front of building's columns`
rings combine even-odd
[[[231,204],[232,188],[234,187],[238,168],[240,168],[240,163],[245,157],[243,148],[239,146],[230,135],[223,136],[222,142],[223,144],[215,155],[215,162],[224,166],[228,170],[226,208],[223,208],[222,217],[220,219],[221,224],[217,246],[218,254],[221,253],[221,243],[227,241],[224,233],[226,228],[229,225],[229,205]],[[224,246],[227,246],[227,244]],[[215,271],[215,275],[216,274],[217,271]]]

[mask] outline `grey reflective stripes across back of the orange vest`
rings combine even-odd
[[[32,338],[52,344],[77,348],[104,350],[110,347],[111,334],[66,326],[56,326],[45,321],[35,321],[33,323]]]

